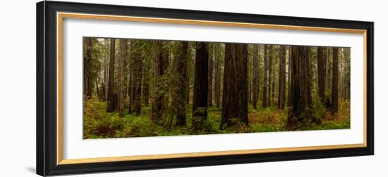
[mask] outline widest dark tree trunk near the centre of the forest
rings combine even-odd
[[[220,129],[236,124],[248,126],[248,45],[225,44],[224,91]]]

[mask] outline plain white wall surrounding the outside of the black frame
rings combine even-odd
[[[75,176],[387,176],[388,18],[384,1],[83,0],[106,4],[375,22],[375,156]],[[35,0],[0,6],[0,176],[35,175]],[[385,54],[385,55],[384,55]]]

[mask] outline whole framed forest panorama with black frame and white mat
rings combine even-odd
[[[373,155],[373,22],[37,3],[37,174]]]

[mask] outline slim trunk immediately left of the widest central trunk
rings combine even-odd
[[[214,99],[216,107],[219,108],[221,103],[221,61],[220,61],[220,44],[215,44],[215,65],[214,65]]]

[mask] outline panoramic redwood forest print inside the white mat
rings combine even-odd
[[[350,48],[83,38],[83,138],[350,129]]]

